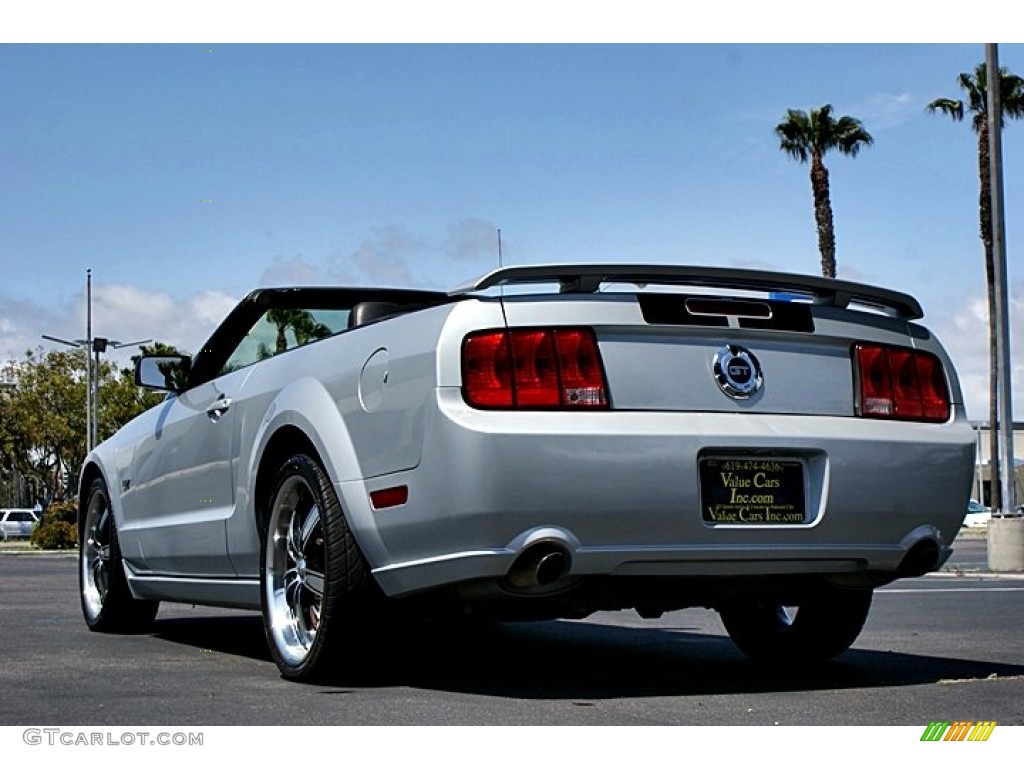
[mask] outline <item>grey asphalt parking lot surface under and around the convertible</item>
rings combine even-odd
[[[5,552],[0,725],[1024,724],[1024,579],[985,572],[983,536],[879,590],[823,667],[759,667],[712,611],[630,611],[411,626],[322,686],[280,678],[254,613],[163,605],[151,634],[90,633],[73,556]]]

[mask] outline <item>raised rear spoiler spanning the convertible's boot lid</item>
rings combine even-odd
[[[604,283],[701,286],[795,295],[814,304],[847,308],[859,304],[903,319],[925,316],[912,296],[886,288],[807,274],[674,264],[544,264],[506,266],[450,292],[459,296],[497,286],[557,283],[561,293],[596,293]]]

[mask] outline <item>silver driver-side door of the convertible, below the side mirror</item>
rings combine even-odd
[[[166,574],[233,575],[225,521],[234,508],[239,400],[251,369],[170,396],[122,477],[129,562]]]

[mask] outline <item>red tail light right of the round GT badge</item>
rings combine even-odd
[[[949,389],[942,361],[931,352],[855,344],[857,413],[868,419],[944,422]]]

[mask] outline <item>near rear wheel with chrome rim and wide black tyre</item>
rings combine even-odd
[[[377,593],[330,478],[289,459],[266,505],[260,561],[263,625],[282,675],[314,681],[336,669]]]

